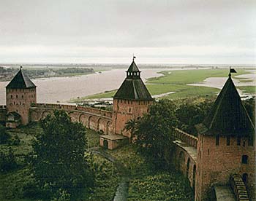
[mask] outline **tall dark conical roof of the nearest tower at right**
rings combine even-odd
[[[244,108],[231,76],[211,108],[208,117],[197,125],[200,134],[205,135],[252,135],[255,127]]]

